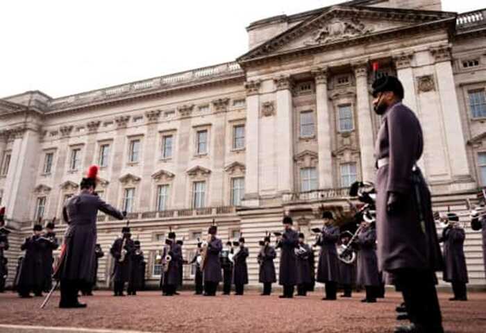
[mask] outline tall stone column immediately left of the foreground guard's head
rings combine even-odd
[[[358,133],[362,180],[374,181],[374,135],[369,107],[368,68],[366,63],[354,67],[356,78],[356,107],[358,111]]]

